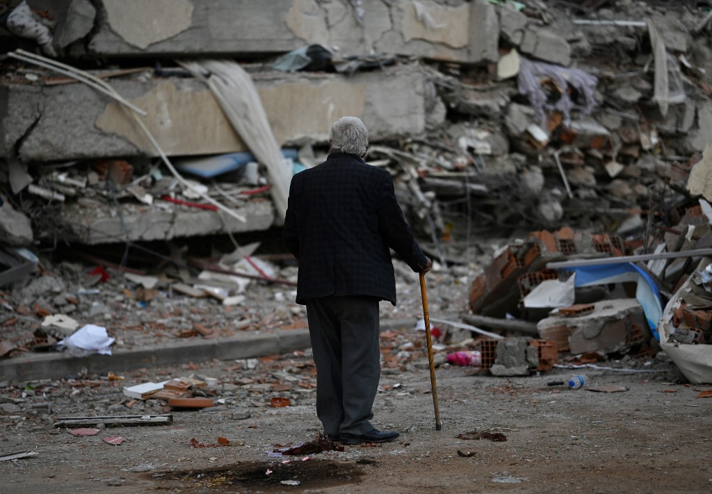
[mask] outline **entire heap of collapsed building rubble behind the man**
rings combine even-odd
[[[504,331],[572,354],[656,351],[664,304],[710,245],[709,6],[238,3],[0,4],[3,354],[67,337],[41,327],[58,314],[105,317],[119,345],[119,327],[214,337],[302,326],[292,293],[275,288],[294,282],[288,261],[258,264],[232,237],[234,253],[210,258],[174,244],[149,253],[157,269],[136,268],[137,251],[278,228],[290,177],[323,161],[339,115],[367,125],[367,161],[392,174],[438,261],[448,320],[466,309],[501,331],[513,317],[531,324]],[[491,247],[490,236],[507,239]],[[68,287],[33,253],[58,243],[126,248],[80,256]],[[396,269],[399,290],[416,285]],[[112,280],[93,300],[102,270]],[[266,295],[246,292],[248,280]],[[205,325],[187,301],[220,310]],[[113,313],[133,308],[145,312]],[[676,342],[703,342],[706,310],[676,308]]]

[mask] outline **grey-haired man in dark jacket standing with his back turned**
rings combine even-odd
[[[335,441],[392,441],[397,431],[370,422],[381,372],[378,303],[396,304],[389,248],[417,273],[431,261],[413,239],[389,173],[362,159],[363,122],[337,120],[329,144],[325,162],[293,177],[283,230],[299,261],[296,301],[307,308],[317,416]]]

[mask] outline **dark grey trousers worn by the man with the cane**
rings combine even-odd
[[[381,375],[378,300],[332,296],[306,305],[316,364],[316,414],[325,433],[366,433],[373,429]]]

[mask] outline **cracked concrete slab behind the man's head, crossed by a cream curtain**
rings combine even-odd
[[[401,65],[350,78],[337,74],[255,73],[279,144],[325,142],[343,115],[360,117],[371,140],[425,129],[424,75]],[[143,119],[169,156],[245,151],[210,90],[194,79],[115,80],[120,95],[148,112]],[[0,157],[56,161],[156,156],[125,110],[83,84],[0,87]]]

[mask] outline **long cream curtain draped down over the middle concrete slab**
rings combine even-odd
[[[282,157],[251,76],[232,61],[203,60],[181,62],[181,65],[206,80],[234,129],[258,161],[267,167],[277,210],[275,219],[281,224],[287,211],[291,170]],[[206,74],[209,74],[207,79]]]

